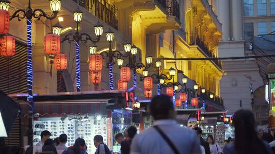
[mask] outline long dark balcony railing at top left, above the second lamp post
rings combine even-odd
[[[73,0],[106,24],[118,30],[117,9],[106,0]]]

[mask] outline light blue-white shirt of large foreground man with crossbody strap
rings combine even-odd
[[[154,125],[167,135],[180,153],[200,154],[200,143],[195,131],[180,127],[175,120],[157,120]],[[150,127],[136,134],[131,143],[131,154],[174,153],[155,128]]]

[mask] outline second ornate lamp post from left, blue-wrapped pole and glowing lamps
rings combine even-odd
[[[61,42],[64,42],[66,40],[70,42],[74,41],[75,42],[75,65],[76,65],[76,88],[77,91],[79,92],[81,90],[81,81],[80,81],[80,41],[82,43],[86,43],[87,41],[91,41],[93,43],[97,43],[100,40],[100,37],[103,34],[103,25],[98,22],[94,26],[94,31],[95,35],[97,36],[96,38],[92,38],[89,34],[87,33],[80,33],[79,32],[79,24],[82,20],[82,14],[83,12],[79,9],[79,7],[74,11],[73,13],[73,18],[76,23],[76,31],[75,33],[69,33],[67,34]],[[58,29],[58,25],[55,25],[53,29]],[[91,46],[90,47],[90,53],[94,54],[96,51],[96,46]]]

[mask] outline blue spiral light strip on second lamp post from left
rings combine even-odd
[[[80,82],[80,46],[79,42],[75,42],[75,66],[76,66],[76,88],[77,91],[81,90],[81,82]]]

